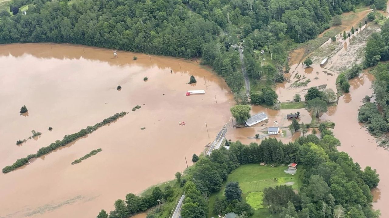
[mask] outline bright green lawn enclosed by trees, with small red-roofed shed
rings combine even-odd
[[[284,173],[287,166],[260,166],[259,164],[246,164],[238,167],[230,175],[227,181],[223,184],[222,189],[209,197],[209,213],[208,217],[217,217],[213,211],[213,205],[218,196],[220,199],[224,198],[225,185],[228,182],[239,182],[240,189],[242,189],[242,199],[252,206],[255,214],[252,217],[279,217],[278,214],[270,214],[267,208],[262,205],[263,192],[267,187],[275,187],[277,185],[284,185],[287,182],[293,182],[293,189],[299,189],[301,182],[298,180],[298,173],[296,175],[289,175]],[[300,172],[298,170],[297,172]],[[277,178],[277,179],[275,179]]]

